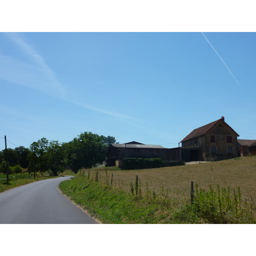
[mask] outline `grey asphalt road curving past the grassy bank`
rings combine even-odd
[[[0,193],[0,224],[98,224],[58,190],[70,176]]]

